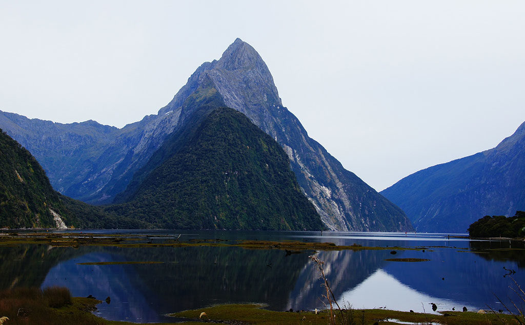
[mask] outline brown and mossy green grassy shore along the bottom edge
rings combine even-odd
[[[92,314],[100,300],[95,298],[71,298],[67,288],[51,287],[17,288],[0,292],[0,317],[9,318],[5,324],[131,324],[108,321]],[[185,324],[218,322],[229,324],[327,324],[328,312],[270,311],[262,305],[218,305],[202,309],[186,310],[172,316],[187,318]],[[199,320],[201,313],[206,315]],[[508,324],[516,323],[510,315],[491,313],[443,312],[441,315],[403,312],[382,309],[336,311],[336,320],[345,324],[395,324],[398,321],[411,323],[438,322],[440,324],[495,324],[500,319]],[[353,321],[353,322],[352,322]]]

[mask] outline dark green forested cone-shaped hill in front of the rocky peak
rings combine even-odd
[[[226,107],[193,115],[109,211],[157,228],[323,229],[274,139]]]

